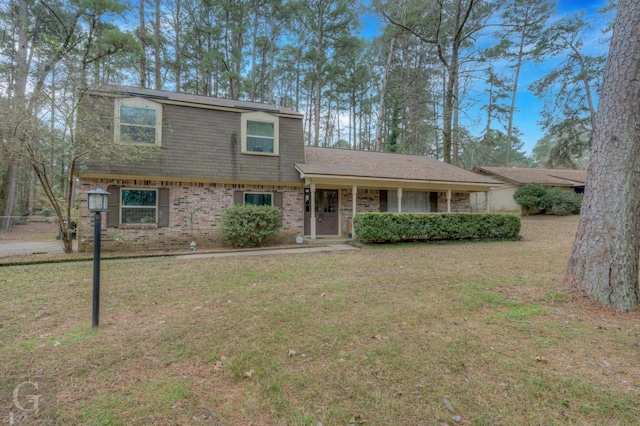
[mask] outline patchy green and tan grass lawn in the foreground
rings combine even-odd
[[[524,218],[517,242],[104,261],[97,329],[90,263],[3,267],[0,377],[53,384],[40,420],[60,424],[635,424],[640,316],[561,287],[576,224]]]

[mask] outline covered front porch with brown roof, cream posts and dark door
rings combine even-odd
[[[358,212],[479,211],[469,194],[482,192],[489,200],[500,185],[428,157],[309,147],[306,154],[296,169],[304,180],[304,233],[312,240],[355,236]],[[451,180],[429,179],[438,172]]]

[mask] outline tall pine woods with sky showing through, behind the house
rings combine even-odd
[[[594,40],[593,26],[613,8],[602,17],[562,15],[546,0],[3,2],[3,215],[58,203],[69,216],[78,162],[108,150],[76,134],[94,85],[283,105],[304,113],[312,146],[467,169],[584,168],[605,62],[590,46],[608,43],[607,28]],[[375,22],[373,35],[363,31]],[[551,66],[523,87],[532,64]],[[516,125],[523,91],[544,101],[545,136],[531,153]]]

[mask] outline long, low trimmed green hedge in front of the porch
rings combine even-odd
[[[364,243],[517,239],[520,216],[504,213],[357,213],[356,236]]]

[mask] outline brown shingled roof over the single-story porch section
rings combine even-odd
[[[305,148],[305,163],[296,164],[301,177],[349,177],[500,186],[487,176],[421,155],[335,148]]]

